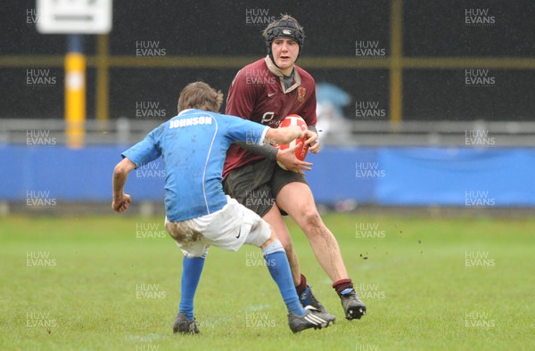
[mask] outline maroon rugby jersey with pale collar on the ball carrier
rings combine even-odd
[[[294,66],[293,86],[285,89],[282,74],[266,57],[252,62],[236,74],[228,91],[225,113],[272,128],[295,113],[308,126],[316,126],[316,83],[306,70]],[[256,159],[262,159],[262,156],[231,145],[226,152],[223,177]]]

